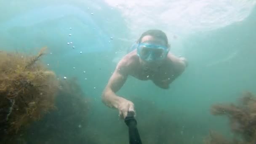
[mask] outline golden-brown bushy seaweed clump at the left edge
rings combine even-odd
[[[0,52],[0,141],[17,135],[30,123],[54,109],[58,81],[36,56]]]

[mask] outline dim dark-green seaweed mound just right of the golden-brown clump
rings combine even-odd
[[[32,144],[94,144],[87,129],[89,101],[75,78],[60,80],[56,109],[34,122],[23,139]],[[99,144],[97,142],[96,144]]]

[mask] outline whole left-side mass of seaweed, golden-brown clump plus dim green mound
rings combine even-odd
[[[95,143],[88,100],[75,79],[58,80],[36,56],[0,52],[0,143]]]

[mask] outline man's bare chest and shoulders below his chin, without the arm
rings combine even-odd
[[[128,75],[136,77],[139,80],[152,80],[155,85],[164,89],[167,89],[169,84],[175,80],[185,68],[184,62],[171,53],[168,53],[167,59],[154,69],[150,69],[144,64],[141,64],[136,51],[128,53],[125,57],[126,58],[123,60],[126,61]]]

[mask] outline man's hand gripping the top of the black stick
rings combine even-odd
[[[132,112],[134,116],[136,115],[133,102],[128,101],[126,99],[123,99],[123,101],[119,104],[118,110],[119,116],[122,119],[125,119],[128,112]]]

